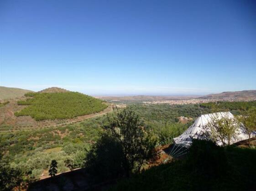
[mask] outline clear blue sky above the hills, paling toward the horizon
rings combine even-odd
[[[256,89],[256,1],[0,0],[0,85],[89,95]]]

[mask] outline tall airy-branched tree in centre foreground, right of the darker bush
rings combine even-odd
[[[105,128],[122,148],[125,176],[139,172],[144,162],[157,156],[156,140],[146,134],[139,116],[131,109],[125,108],[108,117]]]

